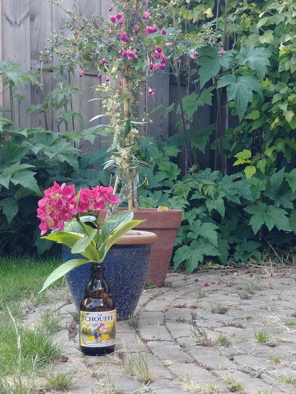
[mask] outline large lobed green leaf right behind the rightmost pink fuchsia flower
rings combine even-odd
[[[228,68],[232,59],[232,53],[224,52],[221,56],[218,52],[221,50],[220,46],[208,46],[199,50],[199,81],[200,89],[204,87],[212,76],[216,76],[221,67]]]

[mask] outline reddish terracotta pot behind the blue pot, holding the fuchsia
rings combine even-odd
[[[100,219],[104,216],[105,212],[102,211]],[[151,248],[147,282],[157,287],[163,286],[172,257],[176,232],[181,225],[182,210],[169,209],[157,212],[157,208],[140,208],[139,211],[134,211],[134,219],[146,219],[135,229],[152,231],[157,235],[157,241]]]

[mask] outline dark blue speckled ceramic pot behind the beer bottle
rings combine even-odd
[[[104,259],[105,278],[110,286],[119,319],[126,319],[136,309],[148,275],[152,243],[115,244]],[[63,262],[72,258],[85,258],[80,254],[72,254],[66,245],[63,245],[62,256]],[[67,273],[66,279],[75,306],[79,310],[84,289],[90,280],[90,263],[72,269]]]

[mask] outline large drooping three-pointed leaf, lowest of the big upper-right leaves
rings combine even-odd
[[[228,100],[234,100],[238,117],[240,121],[247,110],[247,105],[252,102],[253,91],[262,96],[262,88],[253,75],[236,75],[226,74],[219,78],[217,88],[227,86]]]

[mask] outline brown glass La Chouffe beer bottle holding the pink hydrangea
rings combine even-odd
[[[91,277],[80,304],[80,348],[97,356],[113,353],[116,344],[116,307],[104,278],[103,263],[92,263]]]

